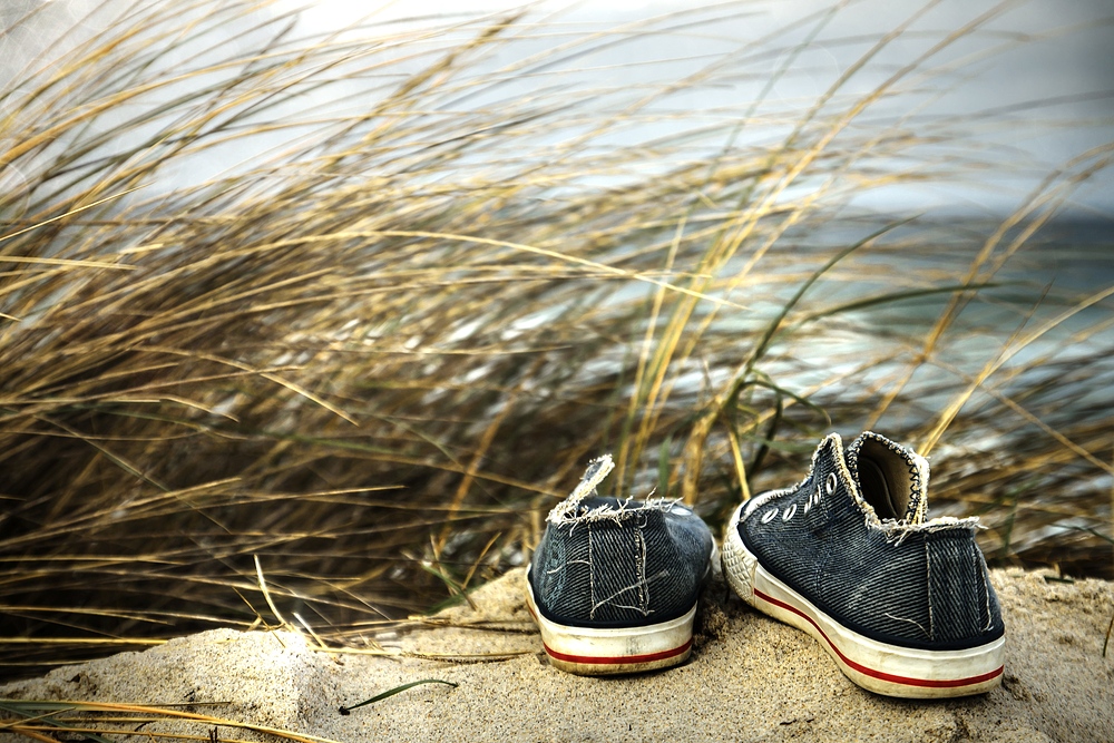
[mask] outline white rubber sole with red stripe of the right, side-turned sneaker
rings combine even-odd
[[[1005,637],[962,651],[889,645],[842,626],[762,567],[739,536],[735,509],[723,537],[723,573],[739,596],[788,625],[809,633],[840,671],[886,696],[941,698],[981,694],[1001,683]]]

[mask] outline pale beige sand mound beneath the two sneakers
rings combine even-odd
[[[1000,688],[942,702],[890,700],[839,673],[819,645],[711,585],[692,659],[668,671],[586,678],[551,668],[520,570],[395,635],[390,655],[335,655],[304,633],[206,632],[0,687],[0,696],[218,702],[196,712],[334,741],[1114,741],[1114,584],[993,571],[1007,629]],[[1114,645],[1114,642],[1112,642]],[[507,654],[499,658],[492,654]],[[452,654],[446,661],[438,654]],[[478,654],[479,657],[467,657]],[[498,659],[497,659],[498,658]],[[341,705],[421,678],[344,716]],[[192,726],[190,726],[192,725]],[[139,727],[138,725],[135,725]],[[208,735],[193,723],[144,733]],[[222,739],[275,740],[219,729]],[[16,740],[0,734],[0,741]],[[27,740],[27,739],[20,739]]]

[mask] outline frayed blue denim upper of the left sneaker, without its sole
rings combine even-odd
[[[549,514],[529,580],[551,622],[637,627],[668,622],[696,604],[712,532],[690,509],[657,499],[602,498],[595,486],[610,458],[595,460]]]

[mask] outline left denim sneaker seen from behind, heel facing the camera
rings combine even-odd
[[[549,662],[603,676],[683,663],[714,540],[703,520],[665,499],[602,498],[614,465],[595,459],[546,519],[526,573],[526,599]]]

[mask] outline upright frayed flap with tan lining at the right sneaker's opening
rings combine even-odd
[[[847,467],[880,519],[922,524],[928,515],[928,460],[883,436],[864,432],[847,449]]]

